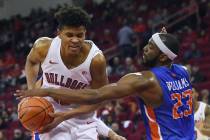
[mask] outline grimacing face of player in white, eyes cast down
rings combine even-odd
[[[65,53],[75,55],[80,53],[85,40],[86,29],[84,26],[64,26],[58,33]]]

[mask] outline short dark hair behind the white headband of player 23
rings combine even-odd
[[[175,53],[176,55],[178,55],[179,53],[179,41],[178,39],[172,35],[172,34],[169,34],[169,33],[161,33],[159,34],[160,35],[160,38],[161,40],[163,41],[163,43],[173,52]]]

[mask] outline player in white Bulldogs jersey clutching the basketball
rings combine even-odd
[[[102,52],[90,40],[85,40],[90,24],[88,14],[78,7],[65,7],[55,15],[58,21],[58,36],[37,39],[27,56],[25,70],[28,89],[34,89],[40,68],[41,88],[99,88],[108,83],[106,60]],[[95,118],[94,110],[99,104],[78,106],[46,97],[55,111],[74,108],[72,119],[54,119],[40,134],[41,140],[97,140],[98,133],[113,140],[124,140]],[[63,121],[63,122],[62,122]],[[50,130],[52,129],[52,130]],[[49,132],[48,132],[49,131]],[[98,132],[98,133],[97,133]],[[37,137],[35,137],[37,138]]]

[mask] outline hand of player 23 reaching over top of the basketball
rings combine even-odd
[[[31,89],[31,90],[16,90],[16,93],[14,96],[16,96],[16,99],[21,100],[26,97],[32,97],[32,96],[40,96],[45,97],[47,96],[47,92],[43,92],[42,89]]]

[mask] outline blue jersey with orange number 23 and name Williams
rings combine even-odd
[[[192,87],[187,71],[177,64],[151,71],[162,88],[163,103],[153,108],[138,98],[147,140],[194,140]]]

